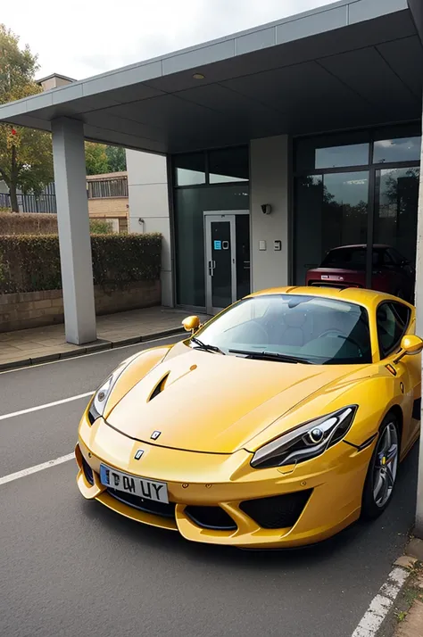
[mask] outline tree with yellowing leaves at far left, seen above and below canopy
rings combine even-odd
[[[34,77],[37,55],[19,46],[19,37],[0,24],[0,103],[41,92]],[[17,189],[39,194],[53,181],[51,136],[39,130],[0,124],[0,178],[9,188],[12,211],[19,211]]]

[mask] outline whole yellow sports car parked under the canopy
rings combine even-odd
[[[78,485],[123,516],[243,548],[377,517],[419,436],[415,310],[361,289],[252,294],[139,352],[79,426]]]

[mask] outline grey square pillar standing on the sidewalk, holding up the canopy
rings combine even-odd
[[[83,124],[52,120],[54,182],[66,341],[96,339]]]

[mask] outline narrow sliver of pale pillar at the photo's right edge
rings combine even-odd
[[[416,255],[416,334],[423,338],[423,145],[420,164],[419,213],[417,224]],[[423,375],[423,355],[422,375]],[[423,422],[423,402],[420,423]],[[423,540],[423,434],[420,435],[419,477],[417,489],[416,528],[414,534]]]

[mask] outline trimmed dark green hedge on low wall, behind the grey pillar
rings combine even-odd
[[[95,285],[160,278],[162,235],[92,235]],[[57,235],[0,236],[0,294],[62,289]]]

